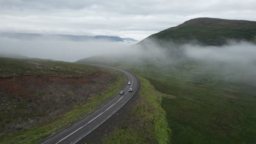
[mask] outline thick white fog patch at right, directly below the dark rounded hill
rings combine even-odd
[[[237,64],[255,64],[256,45],[247,42],[230,41],[224,46],[184,45],[185,54],[190,58],[205,62],[226,62]]]

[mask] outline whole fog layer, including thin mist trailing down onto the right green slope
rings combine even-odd
[[[134,43],[1,39],[0,44],[0,54],[16,53],[67,62],[97,56],[93,61],[103,64],[115,63],[115,66],[129,65],[139,69],[150,64],[166,71],[177,65],[193,63],[201,73],[224,77],[232,75],[238,82],[256,85],[256,45],[248,42],[230,41],[224,46],[200,46],[195,43],[175,45],[147,41],[146,46],[142,47]],[[185,70],[182,69],[182,73],[191,75],[189,70]]]

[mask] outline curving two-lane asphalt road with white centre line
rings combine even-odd
[[[100,67],[107,67],[103,65],[96,65]],[[107,67],[113,68],[113,67]],[[76,143],[86,135],[88,135],[92,130],[96,129],[100,124],[105,122],[110,116],[112,116],[117,110],[119,110],[125,103],[128,101],[132,95],[137,91],[139,80],[138,78],[130,73],[129,71],[113,68],[119,70],[122,73],[126,74],[131,85],[127,85],[123,91],[124,95],[117,95],[114,99],[109,101],[106,105],[102,106],[100,109],[91,113],[91,115],[85,117],[81,121],[75,123],[71,127],[61,131],[59,134],[50,137],[48,140],[42,142],[42,144],[47,143]],[[129,88],[132,88],[133,91],[129,92]],[[95,137],[97,139],[97,137]]]

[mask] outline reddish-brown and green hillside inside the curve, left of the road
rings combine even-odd
[[[38,143],[126,84],[123,73],[84,64],[0,57],[0,65],[0,143]]]

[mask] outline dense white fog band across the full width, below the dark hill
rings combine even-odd
[[[200,46],[196,44],[174,45],[148,41],[146,46],[132,46],[124,42],[76,42],[0,39],[0,53],[18,54],[32,58],[54,59],[75,62],[92,56],[133,57],[130,61],[161,61],[172,63],[177,56],[196,61],[255,64],[256,45],[248,42],[230,41],[224,46]],[[168,45],[168,46],[166,46]],[[135,59],[134,59],[135,58]]]

